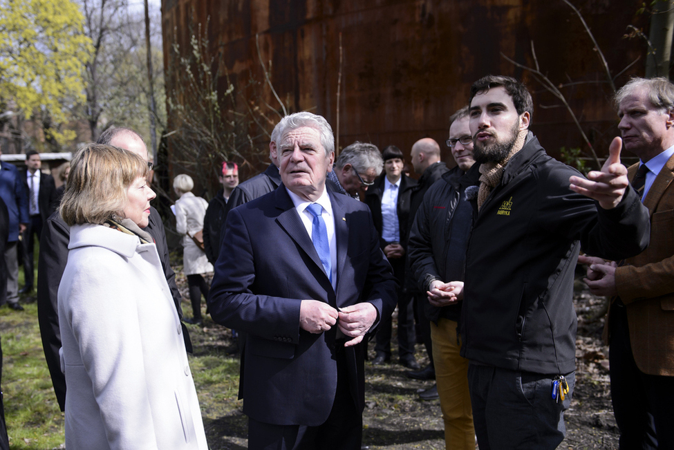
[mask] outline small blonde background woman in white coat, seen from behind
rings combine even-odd
[[[183,318],[187,324],[202,324],[201,295],[208,297],[208,283],[203,277],[207,272],[213,272],[213,265],[208,262],[208,257],[195,242],[199,240],[204,229],[204,216],[208,202],[191,193],[194,181],[191,176],[180,174],[174,178],[174,191],[178,196],[176,200],[176,231],[182,236],[182,272],[187,276],[189,287],[189,301],[192,304],[192,317]],[[203,238],[200,238],[203,243]]]

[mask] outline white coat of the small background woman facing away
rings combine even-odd
[[[191,236],[204,227],[204,216],[208,202],[191,192],[185,192],[176,200],[176,231],[182,236],[182,272],[185,275],[213,272],[213,265],[192,241]]]

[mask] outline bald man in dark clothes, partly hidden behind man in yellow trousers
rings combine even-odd
[[[417,213],[417,209],[421,205],[424,194],[433,185],[434,182],[440,180],[444,174],[449,171],[447,165],[440,161],[440,145],[431,138],[423,138],[418,140],[412,146],[411,160],[414,171],[421,175],[415,187],[412,187],[409,207],[409,227],[412,227],[413,218]],[[409,230],[408,230],[409,231]],[[408,233],[409,236],[409,233]],[[409,266],[408,266],[409,268]],[[405,280],[405,288],[414,296],[414,304],[417,312],[419,333],[426,347],[426,352],[429,355],[429,365],[422,368],[420,371],[407,372],[407,376],[414,379],[435,379],[436,369],[433,365],[433,350],[431,344],[431,326],[428,317],[425,315],[424,304],[426,303],[426,293],[422,292],[417,280],[411,276],[411,270],[407,270],[408,276]],[[435,400],[438,398],[438,390],[435,385],[428,388],[426,391],[420,393],[424,400]]]

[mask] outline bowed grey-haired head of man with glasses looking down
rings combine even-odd
[[[360,200],[368,187],[375,184],[382,169],[384,160],[377,146],[356,141],[339,153],[333,171],[328,172],[326,186],[333,192]]]

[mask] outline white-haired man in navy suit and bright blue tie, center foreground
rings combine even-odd
[[[326,189],[328,122],[296,113],[281,130],[283,185],[227,217],[209,310],[247,332],[249,449],[359,449],[366,336],[396,283],[368,207]]]

